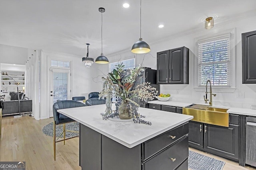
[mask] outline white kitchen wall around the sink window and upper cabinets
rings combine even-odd
[[[175,25],[174,25],[175,26]],[[204,25],[202,24],[202,27]],[[194,39],[204,35],[211,35],[215,33],[221,33],[227,29],[236,28],[236,89],[234,92],[213,92],[216,93],[216,97],[213,97],[213,106],[227,106],[227,107],[245,107],[249,108],[251,104],[256,104],[256,84],[242,84],[242,33],[256,30],[256,16],[251,18],[246,18],[243,20],[234,21],[231,23],[223,25],[215,25],[214,28],[210,30],[203,30],[196,33],[190,33],[178,38],[171,38],[168,41],[155,43],[150,45],[151,51],[149,54],[138,54],[136,55],[137,64],[141,64],[143,57],[143,66],[151,67],[156,69],[156,53],[168,49],[174,49],[177,47],[188,47],[190,49],[190,59],[189,59],[189,84],[185,85],[160,85],[161,93],[171,94],[172,101],[177,102],[190,102],[190,103],[201,103],[204,104],[204,94],[205,92],[197,92],[194,87],[197,86],[197,79],[195,79],[195,74],[197,70],[194,69],[195,57],[194,56]],[[146,37],[144,37],[146,39]],[[132,46],[132,44],[131,44]],[[109,57],[110,61],[122,57],[128,57],[134,55],[130,51],[119,53],[118,55],[112,55]],[[105,70],[107,72],[107,70]],[[238,93],[244,94],[244,98],[237,98]]]

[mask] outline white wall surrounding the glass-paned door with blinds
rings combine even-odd
[[[42,50],[39,55],[41,56],[41,103],[40,103],[40,119],[48,118],[50,115],[50,63],[47,58],[56,59],[60,61],[71,61],[71,97],[72,96],[85,96],[88,99],[90,92],[99,92],[102,89],[102,84],[99,82],[102,75],[96,63],[92,64],[90,68],[86,68],[82,63],[82,57],[70,55],[66,53],[58,53],[52,51]],[[94,82],[92,78],[95,78]]]

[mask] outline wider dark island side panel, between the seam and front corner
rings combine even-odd
[[[141,145],[128,148],[102,135],[102,170],[141,170]]]

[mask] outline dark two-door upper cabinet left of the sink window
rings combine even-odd
[[[180,47],[157,53],[157,84],[188,84],[189,49]]]

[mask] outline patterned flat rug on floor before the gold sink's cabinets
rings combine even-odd
[[[188,168],[191,170],[222,170],[225,162],[188,151]]]

